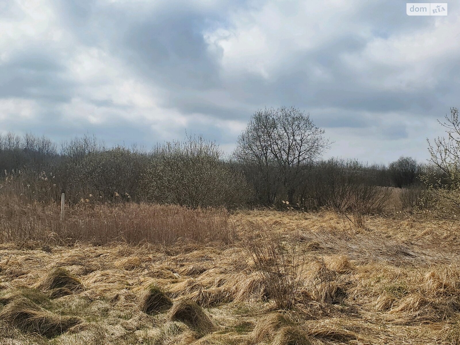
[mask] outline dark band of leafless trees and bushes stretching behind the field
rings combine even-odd
[[[295,108],[257,111],[226,158],[202,137],[147,151],[106,147],[91,136],[58,146],[45,137],[7,133],[0,136],[0,194],[49,203],[65,190],[71,204],[148,201],[377,213],[391,199],[391,187],[404,190],[403,206],[425,205],[421,176],[443,178],[410,157],[388,166],[322,160],[329,146],[324,131]]]

